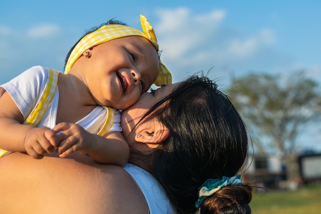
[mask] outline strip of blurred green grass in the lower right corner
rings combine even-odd
[[[320,214],[321,185],[300,187],[295,191],[254,193],[250,206],[253,214]]]

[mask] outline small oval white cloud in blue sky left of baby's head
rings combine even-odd
[[[38,25],[27,31],[27,36],[32,38],[51,37],[59,32],[59,27],[54,24]]]

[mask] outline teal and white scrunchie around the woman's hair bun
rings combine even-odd
[[[198,200],[195,203],[195,207],[198,209],[202,205],[203,201],[208,196],[212,196],[215,192],[228,185],[243,184],[240,180],[240,175],[233,176],[231,178],[223,176],[222,180],[219,179],[207,179],[204,184],[198,188]]]

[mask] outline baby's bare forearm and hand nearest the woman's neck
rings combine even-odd
[[[58,134],[59,157],[65,158],[78,151],[88,154],[98,163],[124,166],[129,158],[129,146],[119,131],[108,132],[104,137],[92,134],[83,127],[72,123],[59,123],[53,130]]]

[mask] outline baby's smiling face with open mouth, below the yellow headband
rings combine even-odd
[[[144,37],[127,36],[95,46],[87,86],[98,105],[126,109],[158,76],[159,59]]]

